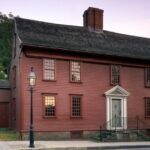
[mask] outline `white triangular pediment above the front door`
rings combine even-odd
[[[122,97],[128,97],[130,93],[126,91],[124,88],[122,88],[119,85],[116,85],[112,89],[105,92],[106,96],[122,96]]]

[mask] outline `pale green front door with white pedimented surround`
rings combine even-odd
[[[105,92],[106,128],[121,130],[127,128],[127,99],[130,95],[119,85]]]

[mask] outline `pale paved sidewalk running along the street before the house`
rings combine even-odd
[[[31,150],[29,141],[0,141],[0,150]],[[150,142],[35,141],[35,150],[100,150],[149,147]]]

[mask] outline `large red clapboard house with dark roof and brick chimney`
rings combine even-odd
[[[101,9],[89,7],[83,22],[80,27],[15,18],[11,126],[23,139],[30,124],[31,67],[37,138],[149,131],[150,39],[103,30]]]

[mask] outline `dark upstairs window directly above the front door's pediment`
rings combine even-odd
[[[120,84],[120,66],[111,65],[111,84],[118,85]]]

